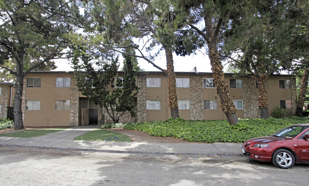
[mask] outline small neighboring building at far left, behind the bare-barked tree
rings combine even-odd
[[[14,118],[12,108],[15,95],[14,86],[14,83],[0,82],[0,118]]]

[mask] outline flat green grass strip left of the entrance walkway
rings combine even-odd
[[[60,130],[65,130],[68,128],[71,128],[71,127],[23,130],[23,131],[18,131],[18,132],[0,134],[0,136],[16,137],[16,138],[32,138],[32,137],[37,137],[37,136],[42,136],[45,134],[53,133],[53,132],[58,132]]]

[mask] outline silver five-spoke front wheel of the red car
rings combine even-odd
[[[295,157],[286,149],[278,149],[272,155],[272,162],[276,167],[290,168],[295,163]]]

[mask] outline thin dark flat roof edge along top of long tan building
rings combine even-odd
[[[86,71],[82,71],[86,72]],[[118,73],[124,73],[125,71],[118,71]],[[138,71],[137,74],[164,74],[162,71]],[[74,71],[31,71],[29,74],[74,74]],[[176,75],[213,75],[212,72],[175,72]],[[224,73],[227,76],[233,76],[234,73]],[[251,74],[248,74],[252,76]],[[270,76],[281,76],[281,77],[296,77],[290,74],[272,74]]]

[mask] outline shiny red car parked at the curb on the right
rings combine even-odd
[[[242,153],[258,161],[273,162],[279,168],[309,163],[309,123],[287,126],[270,136],[248,139]]]

